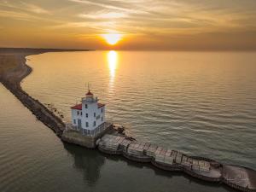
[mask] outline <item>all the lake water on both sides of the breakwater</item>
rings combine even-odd
[[[67,121],[89,82],[107,104],[107,118],[138,140],[256,169],[256,53],[91,51],[27,58],[33,72],[22,88],[52,103]],[[0,191],[232,191],[61,143],[3,86],[0,92]]]

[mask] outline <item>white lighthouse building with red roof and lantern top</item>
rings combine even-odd
[[[95,131],[105,123],[105,104],[88,90],[82,103],[71,108],[72,125],[81,131]]]

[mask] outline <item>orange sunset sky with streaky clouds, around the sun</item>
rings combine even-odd
[[[256,0],[0,0],[0,47],[254,50],[255,20]]]

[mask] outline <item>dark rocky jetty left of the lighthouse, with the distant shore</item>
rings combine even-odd
[[[53,112],[44,106],[37,99],[29,96],[22,90],[20,82],[32,73],[32,67],[26,65],[26,56],[38,55],[46,52],[66,52],[66,51],[88,51],[78,49],[0,49],[0,55],[15,57],[17,65],[3,73],[0,73],[0,82],[8,89],[20,102],[28,108],[44,125],[48,126],[58,137],[61,137],[65,130],[65,124]],[[1,64],[1,63],[0,63]],[[2,63],[3,65],[4,63]]]

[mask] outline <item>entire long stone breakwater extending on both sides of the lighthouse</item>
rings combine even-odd
[[[25,56],[20,56],[19,67],[15,71],[1,77],[1,82],[26,108],[29,108],[35,114],[37,119],[41,120],[44,125],[47,125],[56,132],[57,136],[61,137],[65,130],[62,120],[56,117],[48,108],[45,108],[41,102],[26,94],[20,87],[20,81],[31,72],[31,67],[26,66]],[[76,136],[67,137],[66,142],[86,147],[87,144],[80,143]],[[82,136],[79,135],[79,137]],[[129,160],[151,163],[166,171],[185,172],[192,177],[206,181],[226,183],[230,187],[241,191],[255,191],[255,171],[253,170],[241,166],[222,165],[206,158],[191,157],[175,150],[161,148],[152,143],[132,141],[132,139],[127,137],[108,137],[108,135],[105,135],[97,142],[96,139],[86,140],[86,142],[89,141],[90,144],[93,144],[91,148],[96,148],[97,143],[99,150],[107,154],[121,154]],[[106,138],[108,138],[108,141]],[[65,140],[63,139],[63,141]]]

